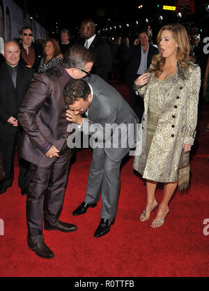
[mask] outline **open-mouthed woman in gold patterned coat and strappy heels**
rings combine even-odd
[[[194,144],[201,83],[199,66],[189,61],[189,39],[183,25],[162,27],[157,43],[160,54],[134,84],[136,94],[144,96],[145,107],[142,150],[137,147],[133,165],[146,179],[147,204],[141,221],[148,221],[157,207],[157,182],[164,183],[163,199],[151,227],[164,224],[178,185],[180,156],[182,151],[189,156]]]

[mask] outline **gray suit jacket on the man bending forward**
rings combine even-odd
[[[112,161],[119,161],[137,142],[137,115],[123,96],[98,75],[84,79],[93,90],[81,130],[97,139],[95,145],[104,148]]]

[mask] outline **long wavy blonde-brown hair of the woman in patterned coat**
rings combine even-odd
[[[180,66],[184,68],[188,68],[188,61],[191,61],[191,57],[189,56],[190,45],[189,38],[187,35],[187,31],[182,24],[174,23],[167,24],[157,33],[157,45],[160,47],[160,38],[162,35],[162,31],[169,30],[173,33],[173,38],[176,40],[178,45],[177,47],[177,60]],[[152,68],[150,68],[150,72],[155,72],[155,75],[159,75],[162,72],[162,67],[164,66],[165,58],[162,57],[162,54],[156,54],[153,56]]]

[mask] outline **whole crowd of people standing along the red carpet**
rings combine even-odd
[[[121,161],[130,149],[135,149],[134,170],[146,179],[147,203],[140,221],[148,221],[158,207],[150,226],[162,227],[174,191],[189,184],[185,165],[194,144],[201,84],[206,100],[209,96],[209,58],[203,63],[196,31],[188,34],[183,25],[168,24],[157,34],[157,45],[150,28],[141,29],[131,44],[119,37],[111,45],[96,35],[93,20],[84,20],[79,31],[73,42],[70,31],[63,29],[60,41],[49,38],[40,44],[33,43],[31,28],[23,27],[20,42],[5,42],[0,67],[0,153],[5,172],[0,194],[13,184],[17,148],[27,243],[47,259],[54,253],[45,244],[43,227],[77,230],[59,220],[70,158],[76,152],[72,133],[83,132],[97,144],[92,147],[84,201],[72,213],[85,214],[102,197],[94,237],[107,234],[115,222]],[[129,104],[109,84],[112,78],[127,83]],[[181,167],[187,171],[184,181]],[[158,182],[164,183],[160,203],[155,199]]]

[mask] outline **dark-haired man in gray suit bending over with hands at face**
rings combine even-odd
[[[102,237],[114,223],[121,186],[120,165],[137,141],[138,118],[124,98],[98,75],[70,80],[63,95],[69,108],[67,120],[97,139],[88,175],[86,197],[73,215],[95,207],[102,191],[101,221],[94,237]],[[88,118],[82,117],[86,113]],[[71,137],[68,137],[71,138]],[[90,139],[91,141],[91,139]],[[68,142],[68,147],[70,142]]]

